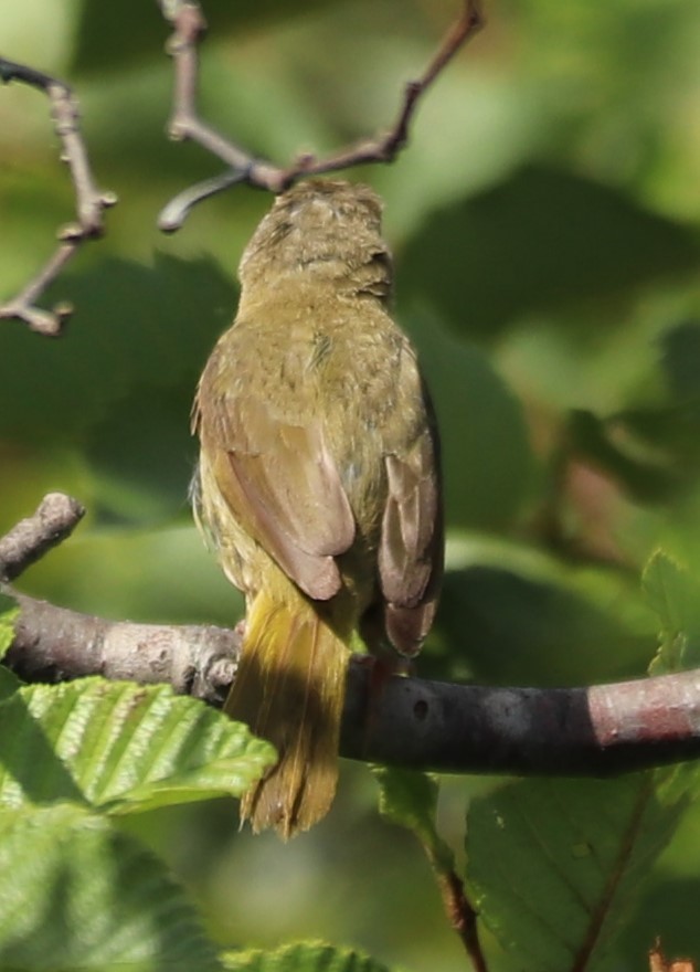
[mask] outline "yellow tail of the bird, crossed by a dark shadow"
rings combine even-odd
[[[284,600],[261,591],[253,601],[225,705],[279,756],[244,795],[241,820],[250,820],[255,833],[274,827],[285,839],[330,809],[349,659],[342,638],[289,588]]]

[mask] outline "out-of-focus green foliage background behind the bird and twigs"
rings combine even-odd
[[[457,6],[209,0],[203,112],[278,161],[371,134]],[[357,173],[386,202],[397,313],[445,444],[449,573],[418,670],[533,684],[641,674],[658,625],[643,564],[661,546],[700,571],[700,8],[494,0],[487,12],[405,154]],[[72,492],[88,518],[24,590],[115,617],[232,623],[240,599],[190,521],[189,408],[268,200],[236,189],[158,234],[170,197],[221,168],[163,134],[167,36],[156,6],[136,0],[4,0],[3,53],[74,84],[96,178],[120,202],[106,239],[46,295],[76,306],[66,336],[0,324],[0,531],[44,492]],[[56,155],[42,96],[2,88],[0,299],[71,219]],[[453,846],[465,793],[484,785],[443,794]],[[416,972],[464,968],[426,863],[375,803],[364,768],[346,768],[328,821],[284,850],[236,834],[224,801],[124,826],[195,888],[225,945],[305,936]],[[616,968],[640,968],[657,933],[667,953],[700,958],[699,871],[691,814]]]

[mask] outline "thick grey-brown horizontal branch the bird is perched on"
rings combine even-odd
[[[100,674],[221,704],[236,632],[113,623],[19,595],[7,661],[29,680]],[[375,698],[350,666],[341,753],[455,773],[605,776],[700,757],[700,672],[592,688],[490,688],[392,678]],[[372,699],[371,711],[368,710]]]

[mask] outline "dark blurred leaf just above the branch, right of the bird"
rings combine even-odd
[[[471,677],[576,685],[632,677],[648,664],[656,623],[636,580],[554,558],[528,563],[517,545],[489,553],[488,545],[471,541],[469,550],[464,566],[445,575],[437,624],[445,642],[458,645],[467,620]],[[431,677],[453,677],[425,661]],[[456,662],[464,664],[464,653]]]

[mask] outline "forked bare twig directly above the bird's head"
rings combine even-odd
[[[168,52],[174,61],[173,109],[169,134],[174,139],[192,139],[222,159],[230,170],[208,179],[172,199],[160,214],[158,225],[166,232],[180,229],[192,207],[236,182],[247,182],[271,192],[282,192],[300,177],[318,176],[367,162],[392,162],[405,147],[417,103],[457,51],[484,25],[480,0],[465,0],[460,17],[449,28],[428,66],[417,81],[410,82],[392,128],[373,139],[363,139],[347,149],[317,159],[299,156],[290,166],[279,167],[256,159],[225,138],[199,117],[197,112],[198,44],[206,22],[197,0],[160,0],[163,17],[174,31]]]

